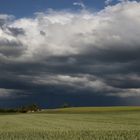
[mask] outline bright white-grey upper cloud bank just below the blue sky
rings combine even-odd
[[[10,24],[10,27],[22,28],[24,36],[14,37],[1,31],[1,38],[24,44],[22,57],[26,59],[81,54],[90,49],[94,51],[95,46],[109,48],[112,44],[129,47],[140,43],[139,13],[140,3],[135,1],[109,6],[98,13],[38,13],[35,18],[22,18]]]

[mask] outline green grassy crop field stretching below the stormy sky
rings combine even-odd
[[[140,140],[140,107],[1,114],[0,140]]]

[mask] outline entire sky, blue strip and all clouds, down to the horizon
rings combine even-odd
[[[140,1],[0,0],[0,107],[140,105]]]

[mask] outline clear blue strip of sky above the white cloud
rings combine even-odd
[[[0,13],[12,14],[16,17],[33,16],[36,12],[44,12],[51,8],[54,10],[77,10],[80,7],[73,3],[80,0],[0,0]],[[84,0],[83,3],[91,9],[102,9],[105,6],[103,0]]]

